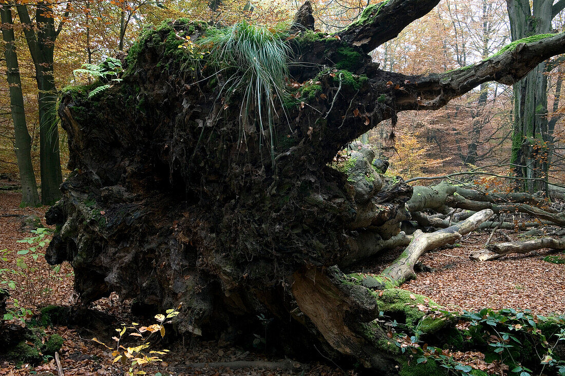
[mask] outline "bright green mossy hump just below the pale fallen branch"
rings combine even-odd
[[[405,323],[410,330],[418,328],[423,333],[434,333],[448,323],[447,320],[441,320],[441,318],[432,318],[418,308],[418,305],[423,305],[431,309],[443,309],[441,305],[424,295],[414,294],[400,288],[383,290],[378,304],[379,310],[383,311],[386,316],[390,316],[398,323]]]

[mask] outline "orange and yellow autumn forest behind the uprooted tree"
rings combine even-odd
[[[316,27],[324,32],[335,32],[357,19],[362,8],[370,3],[313,2]],[[33,14],[33,8],[29,6],[29,14]],[[89,0],[45,3],[45,8],[39,12],[48,13],[47,20],[59,33],[53,38],[53,72],[54,90],[60,92],[69,85],[92,82],[92,75],[75,70],[82,64],[97,64],[107,57],[124,53],[146,24],[158,25],[166,19],[186,16],[224,25],[242,19],[276,25],[288,23],[296,8],[295,2]],[[563,29],[563,17],[562,13],[555,16],[551,23],[553,31]],[[40,116],[38,105],[41,91],[24,35],[26,27],[16,15],[12,22],[13,27],[6,27],[6,20],[3,25],[5,29],[12,28],[15,34],[13,43],[20,71],[25,122],[31,137],[31,160],[34,177],[39,183],[40,117],[44,116]],[[41,33],[41,30],[36,32]],[[509,42],[510,23],[505,2],[449,0],[442,1],[397,38],[384,43],[373,51],[372,56],[385,70],[419,75],[475,63]],[[5,43],[8,43],[6,38]],[[546,111],[537,115],[549,124],[542,139],[537,141],[538,147],[547,153],[541,153],[538,158],[546,160],[546,177],[553,182],[565,178],[564,130],[560,121],[565,111],[560,101],[563,68],[559,60],[551,63],[544,72],[549,105]],[[41,62],[37,64],[41,65]],[[1,67],[6,75],[5,59]],[[18,180],[9,92],[10,87],[18,84],[3,82],[0,89],[0,173]],[[56,93],[51,97],[56,100]],[[514,112],[512,87],[484,84],[451,101],[440,111],[402,112],[395,129],[390,121],[385,121],[364,135],[362,141],[370,142],[381,159],[390,161],[389,174],[398,174],[405,179],[477,168],[506,175],[514,169],[510,163],[516,163],[512,157]],[[50,134],[53,134],[53,127],[51,124]],[[59,134],[58,148],[65,175],[68,173],[64,168],[68,159],[66,136],[61,129]],[[49,201],[53,200],[44,200],[45,203]]]

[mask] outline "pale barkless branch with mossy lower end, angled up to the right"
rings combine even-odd
[[[401,286],[402,283],[416,276],[414,265],[426,251],[433,250],[445,244],[455,243],[462,235],[466,235],[475,230],[492,215],[492,210],[485,209],[473,214],[470,218],[462,222],[446,229],[434,231],[433,233],[425,234],[420,230],[416,230],[414,239],[412,239],[408,247],[406,247],[406,250],[402,252],[398,259],[386,268],[383,273],[379,274],[379,276],[363,279],[363,286],[368,284],[370,286],[366,287],[375,288],[376,290]]]

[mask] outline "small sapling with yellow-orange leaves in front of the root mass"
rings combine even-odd
[[[180,305],[177,309],[180,309]],[[112,362],[119,362],[124,374],[128,376],[145,375],[146,372],[141,370],[142,366],[147,363],[163,361],[159,356],[165,355],[168,352],[166,349],[147,351],[147,349],[151,346],[150,340],[156,333],[159,333],[162,337],[164,337],[164,325],[171,322],[173,317],[177,316],[177,314],[179,314],[179,312],[175,311],[175,309],[167,309],[166,315],[155,315],[157,323],[154,323],[153,325],[141,326],[137,322],[132,322],[129,325],[122,325],[120,329],[116,329],[119,333],[118,336],[112,337],[112,339],[116,342],[115,347],[107,346],[107,344],[99,341],[98,338],[93,338],[92,340],[96,343],[102,344],[104,347],[112,351],[112,356],[114,357]],[[133,347],[125,347],[122,343],[128,336],[137,337],[141,344]]]

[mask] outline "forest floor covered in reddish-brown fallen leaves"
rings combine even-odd
[[[0,191],[0,255],[6,257],[2,268],[19,270],[21,274],[11,275],[16,289],[10,291],[11,299],[8,308],[14,307],[14,299],[18,299],[21,307],[31,308],[37,313],[37,307],[47,304],[72,305],[76,303],[73,294],[72,268],[63,264],[58,272],[47,265],[43,257],[33,260],[33,253],[18,255],[26,248],[19,240],[33,234],[20,232],[21,218],[15,215],[38,215],[43,218],[44,208],[18,207],[20,194],[15,191]],[[42,220],[45,224],[45,220]],[[507,231],[507,234],[518,240],[519,235]],[[417,294],[427,295],[437,303],[454,310],[474,310],[489,308],[523,308],[534,313],[565,313],[565,265],[543,261],[549,251],[534,251],[526,255],[505,256],[494,261],[477,263],[469,259],[471,251],[479,249],[490,235],[489,232],[471,233],[464,237],[455,247],[444,247],[428,252],[421,257],[424,265],[433,268],[433,272],[419,273],[418,278],[402,286]],[[492,242],[497,242],[496,236]],[[38,249],[36,253],[41,253]],[[379,273],[388,263],[396,258],[390,252],[378,260],[367,261],[363,266],[355,266],[354,271]],[[20,261],[18,262],[18,259]],[[22,269],[21,260],[25,260],[27,268]],[[353,270],[352,270],[353,271]],[[0,280],[5,280],[5,277]],[[115,295],[95,302],[91,308],[115,317],[114,328],[122,322],[138,320],[131,317],[128,309],[123,308]],[[141,319],[139,319],[141,320]],[[153,322],[142,322],[145,325]],[[91,340],[94,336],[104,338],[104,334],[95,333],[79,327],[53,326],[45,329],[47,335],[57,333],[64,339],[61,349],[62,369],[65,375],[117,375],[120,369],[112,364],[112,356],[108,349]],[[170,352],[163,357],[163,362],[149,365],[144,370],[149,375],[158,371],[171,375],[290,375],[289,371],[262,369],[260,367],[231,370],[229,368],[199,367],[190,368],[191,364],[203,362],[231,361],[267,361],[277,362],[270,356],[250,349],[235,347],[228,342],[193,340],[191,343],[172,343],[168,345]],[[2,354],[0,354],[1,358]],[[342,370],[328,360],[327,364],[302,365],[302,375],[355,375],[354,370]],[[33,367],[29,364],[15,365],[0,361],[0,375],[56,375],[56,364],[53,359]]]

